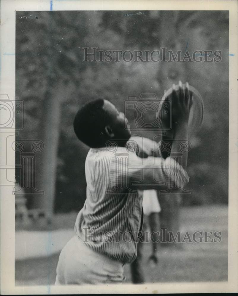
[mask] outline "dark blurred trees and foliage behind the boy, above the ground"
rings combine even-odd
[[[126,16],[126,14],[131,14]],[[100,50],[220,50],[220,62],[83,62],[82,47]],[[182,80],[204,100],[200,131],[190,141],[189,189],[183,205],[228,203],[229,12],[37,11],[16,12],[16,96],[24,102],[24,128],[16,139],[42,140],[36,186],[55,212],[79,210],[85,201],[88,147],[74,135],[78,108],[98,97],[123,111],[128,96],[155,93]],[[16,117],[16,127],[21,122]],[[129,118],[132,120],[132,118]],[[150,135],[147,135],[150,137]],[[31,145],[25,141],[25,151]],[[16,162],[20,153],[16,155]],[[21,173],[16,179],[21,183]],[[49,189],[50,188],[50,189]],[[25,188],[28,207],[37,207]]]

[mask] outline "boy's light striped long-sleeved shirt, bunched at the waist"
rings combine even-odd
[[[161,157],[159,145],[131,137],[126,147],[91,148],[85,161],[87,192],[75,233],[92,250],[131,263],[142,229],[144,189],[182,187],[189,177],[173,158]],[[143,146],[143,148],[141,148]],[[141,152],[153,156],[141,158]],[[149,151],[149,152],[148,152]],[[159,187],[159,188],[160,188]]]

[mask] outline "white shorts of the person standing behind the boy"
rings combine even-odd
[[[156,190],[148,189],[143,191],[142,207],[145,215],[161,211]]]

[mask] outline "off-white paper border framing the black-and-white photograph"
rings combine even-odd
[[[237,199],[237,1],[75,1],[75,0],[2,0],[0,93],[15,97],[15,11],[37,10],[229,10],[229,249],[228,282],[176,282],[100,286],[15,286],[15,195],[13,185],[1,185],[1,294],[111,294],[111,293],[198,293],[237,292],[238,278],[238,199]],[[172,8],[172,9],[171,9]],[[227,99],[227,98],[224,98]],[[15,126],[15,123],[14,123]],[[1,130],[1,143],[10,131]],[[14,133],[14,128],[11,134]],[[1,164],[8,157],[15,163],[13,149],[1,145]],[[7,163],[6,163],[7,164]],[[7,176],[14,180],[12,166]],[[2,182],[1,182],[2,184]]]

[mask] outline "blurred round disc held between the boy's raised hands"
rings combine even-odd
[[[185,84],[182,85],[185,90]],[[175,85],[175,91],[179,90],[178,84]],[[168,89],[162,100],[166,100],[173,92],[173,88]],[[204,103],[199,91],[197,91],[193,86],[189,85],[189,92],[193,93],[193,104],[190,109],[189,119],[188,119],[188,136],[195,136],[199,131],[204,117]]]

